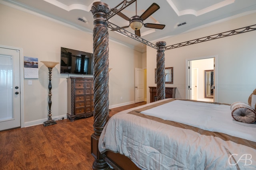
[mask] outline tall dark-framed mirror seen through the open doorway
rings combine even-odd
[[[214,89],[214,77],[213,70],[204,70],[204,98],[212,98],[213,99],[213,89]]]

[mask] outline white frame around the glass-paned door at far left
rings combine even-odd
[[[20,51],[20,126],[24,127],[24,57],[23,49],[0,45],[0,48],[19,50]]]

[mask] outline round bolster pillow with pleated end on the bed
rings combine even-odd
[[[256,112],[252,107],[244,102],[234,102],[231,106],[232,117],[236,121],[244,123],[254,123],[256,121]]]

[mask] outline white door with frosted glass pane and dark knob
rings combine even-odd
[[[0,47],[0,131],[21,126],[20,51]]]

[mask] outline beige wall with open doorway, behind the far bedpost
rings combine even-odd
[[[254,25],[256,13],[236,19],[223,21],[195,31],[162,39],[166,46],[182,43],[193,39],[214,35]],[[174,67],[174,84],[166,86],[177,87],[176,98],[186,98],[186,59],[217,56],[216,70],[218,74],[216,101],[232,104],[247,102],[248,97],[256,88],[256,31],[232,35],[186,47],[165,51],[165,66]],[[154,68],[156,68],[156,50],[147,47],[147,86],[154,84]],[[147,90],[149,100],[149,89]]]

